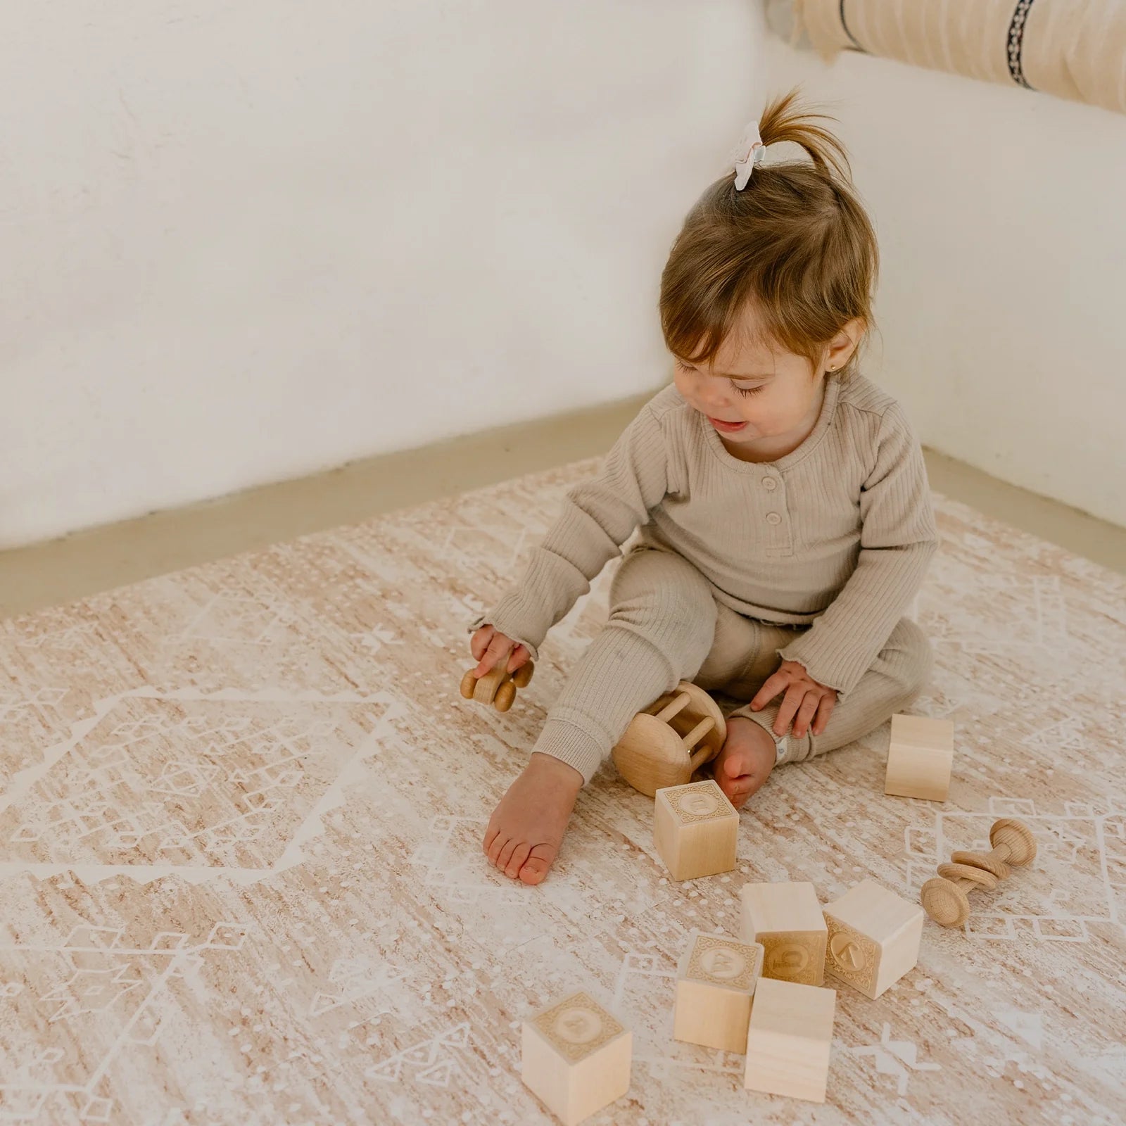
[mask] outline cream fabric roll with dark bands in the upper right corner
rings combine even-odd
[[[794,38],[1126,113],[1126,0],[794,0]],[[804,34],[803,34],[804,33]]]

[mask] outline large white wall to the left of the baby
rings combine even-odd
[[[0,37],[0,547],[609,401],[744,0],[102,0]]]

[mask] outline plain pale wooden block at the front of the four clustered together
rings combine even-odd
[[[835,990],[760,978],[747,1030],[743,1085],[824,1102],[835,1009]]]

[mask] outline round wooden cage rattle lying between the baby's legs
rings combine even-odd
[[[665,786],[690,783],[726,738],[720,706],[703,688],[681,680],[629,721],[614,748],[614,765],[634,789],[653,797]]]

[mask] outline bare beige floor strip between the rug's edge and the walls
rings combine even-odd
[[[650,397],[502,427],[0,552],[0,618],[600,455]],[[932,450],[936,491],[1126,573],[1126,528]]]

